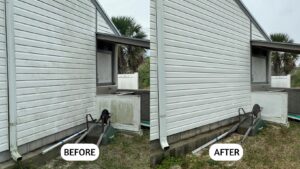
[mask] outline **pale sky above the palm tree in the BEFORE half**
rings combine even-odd
[[[131,16],[150,34],[150,0],[98,0],[105,12],[112,16]]]

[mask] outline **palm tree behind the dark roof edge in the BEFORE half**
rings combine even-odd
[[[137,24],[132,17],[112,17],[112,21],[122,36],[144,39],[147,37],[142,31],[142,26]],[[140,47],[123,46],[119,50],[119,73],[136,72],[144,61],[146,50]]]

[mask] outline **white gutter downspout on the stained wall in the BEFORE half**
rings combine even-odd
[[[14,161],[22,160],[17,145],[16,56],[14,0],[5,1],[6,54],[8,74],[9,150]]]

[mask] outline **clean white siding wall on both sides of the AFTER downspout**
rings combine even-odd
[[[153,4],[151,140],[159,138]],[[249,110],[250,20],[239,6],[230,0],[164,0],[163,10],[166,91],[159,94],[166,96],[167,135],[237,116],[240,107]]]

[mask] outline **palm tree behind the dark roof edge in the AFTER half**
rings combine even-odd
[[[271,34],[271,40],[273,42],[294,43],[293,39],[283,33]],[[296,67],[297,58],[298,55],[294,53],[272,52],[273,71],[275,75],[290,74]]]

